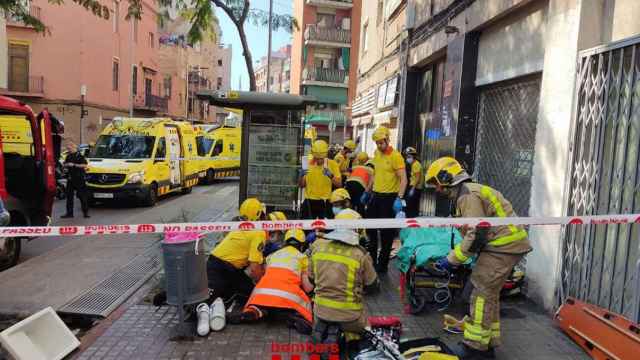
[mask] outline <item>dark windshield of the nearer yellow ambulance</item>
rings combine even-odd
[[[149,159],[153,152],[154,136],[100,135],[92,158]]]

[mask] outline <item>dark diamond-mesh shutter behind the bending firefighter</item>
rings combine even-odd
[[[481,90],[474,175],[529,215],[540,77]]]

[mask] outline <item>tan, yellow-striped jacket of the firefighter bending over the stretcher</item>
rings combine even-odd
[[[516,217],[511,203],[497,190],[486,185],[465,183],[460,187],[456,201],[459,217]],[[490,221],[490,220],[489,220]],[[463,231],[464,239],[451,251],[449,261],[463,263],[473,255],[476,229]],[[487,244],[480,251],[506,254],[525,254],[531,251],[527,232],[521,226],[495,226],[489,228]]]

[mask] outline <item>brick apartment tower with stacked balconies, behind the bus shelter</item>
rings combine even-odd
[[[355,97],[361,0],[295,0],[291,50],[291,93],[315,96],[319,104],[305,122],[319,138],[350,137],[350,107]]]

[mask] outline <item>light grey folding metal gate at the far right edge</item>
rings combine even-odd
[[[580,53],[568,214],[640,212],[640,38]],[[638,320],[638,225],[569,226],[559,300]]]

